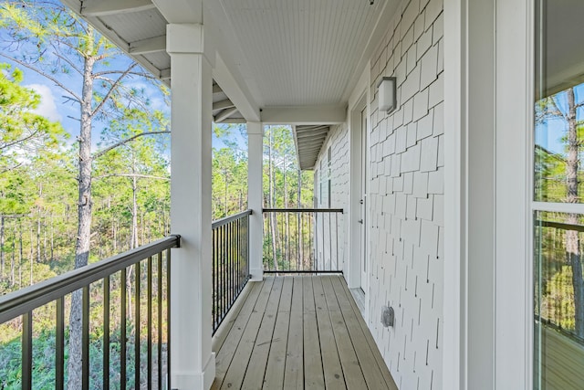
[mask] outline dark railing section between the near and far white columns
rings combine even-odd
[[[213,333],[249,280],[249,216],[246,210],[213,223]]]

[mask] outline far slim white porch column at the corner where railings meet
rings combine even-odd
[[[253,211],[249,218],[249,271],[252,280],[264,278],[264,125],[247,122],[247,203]]]

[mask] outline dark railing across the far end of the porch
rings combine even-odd
[[[341,272],[342,208],[265,208],[264,271]]]

